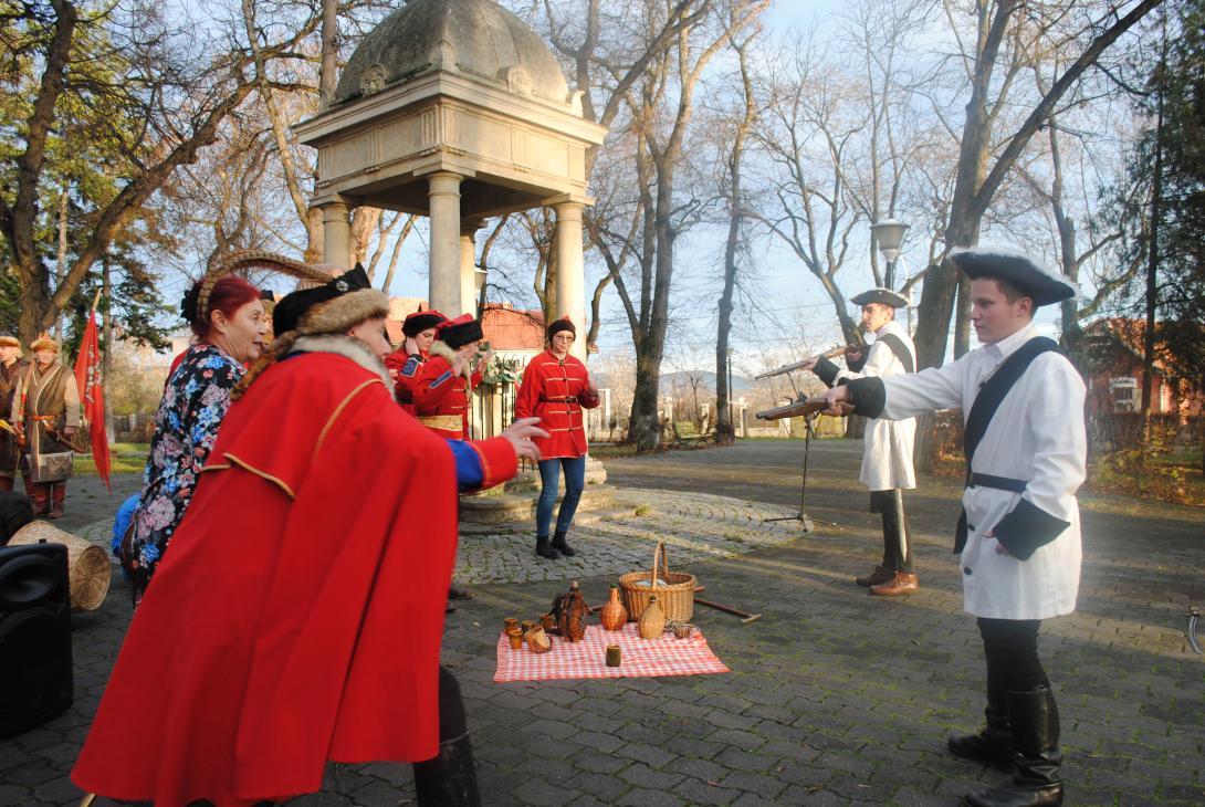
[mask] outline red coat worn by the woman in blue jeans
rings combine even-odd
[[[536,440],[541,459],[581,456],[587,450],[582,410],[599,405],[589,391],[590,376],[576,357],[558,359],[545,351],[528,363],[515,401],[515,418],[540,418],[551,436]]]

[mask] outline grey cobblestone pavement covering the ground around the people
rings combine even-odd
[[[477,582],[476,597],[448,618],[443,662],[463,688],[484,802],[956,805],[999,779],[944,750],[945,735],[976,728],[982,712],[978,636],[948,552],[957,487],[925,479],[906,499],[922,590],[868,597],[852,578],[881,544],[857,484],[859,450],[812,446],[807,511],[833,524],[806,535],[798,522],[759,524],[798,508],[801,446],[772,442],[607,461],[619,501],[583,514],[572,565],[535,559],[522,528],[468,531],[458,575]],[[95,523],[111,501],[87,493],[72,493],[77,520],[64,524],[92,524],[84,531],[104,540]],[[1066,803],[1205,803],[1205,664],[1183,632],[1188,606],[1205,603],[1205,513],[1082,503],[1080,609],[1048,622],[1041,640],[1063,714]],[[502,617],[542,613],[571,578],[601,601],[618,572],[648,564],[654,537],[705,596],[764,614],[742,625],[696,608],[731,673],[493,683]],[[66,773],[128,625],[128,594],[114,581],[100,611],[74,617],[76,703],[0,741],[0,805],[77,803]],[[333,765],[321,794],[289,803],[412,799],[407,765],[375,762]]]

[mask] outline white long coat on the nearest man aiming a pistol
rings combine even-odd
[[[965,422],[981,384],[1036,335],[1030,325],[945,366],[883,379],[882,417],[962,408]],[[968,536],[959,571],[964,607],[976,617],[1047,619],[1075,611],[1081,562],[1075,491],[1083,483],[1087,458],[1083,396],[1083,381],[1071,363],[1058,353],[1044,353],[1009,390],[975,449],[975,472],[1028,481],[1023,494],[982,485],[963,491]],[[998,554],[999,542],[983,536],[1022,497],[1070,522],[1029,560]]]

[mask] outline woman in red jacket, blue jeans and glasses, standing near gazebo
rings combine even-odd
[[[599,390],[586,365],[569,354],[577,329],[569,317],[548,325],[548,349],[531,359],[523,371],[515,418],[541,418],[548,437],[536,440],[540,449],[540,501],[535,509],[535,552],[556,560],[577,552],[565,541],[586,484],[586,424],[582,410],[599,405]],[[557,531],[548,540],[552,507],[557,503],[560,471],[565,471],[565,497],[557,513]]]

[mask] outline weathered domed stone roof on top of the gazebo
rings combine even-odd
[[[449,70],[557,105],[569,87],[556,57],[527,23],[495,0],[411,0],[386,17],[348,59],[335,102]]]

